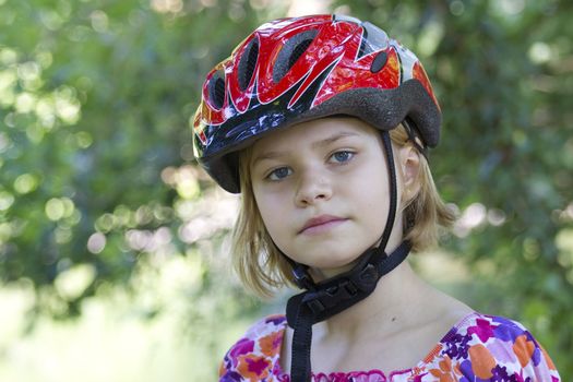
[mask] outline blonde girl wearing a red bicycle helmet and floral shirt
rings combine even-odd
[[[235,266],[262,295],[220,381],[559,381],[520,323],[423,283],[404,259],[454,215],[427,162],[441,112],[416,56],[370,23],[262,25],[207,74],[196,157],[241,192]]]

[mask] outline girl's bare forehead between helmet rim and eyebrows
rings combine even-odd
[[[274,131],[256,141],[252,153],[255,157],[268,151],[296,151],[303,145],[327,144],[347,136],[375,140],[378,132],[358,118],[321,118]]]

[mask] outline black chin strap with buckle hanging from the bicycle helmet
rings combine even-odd
[[[380,246],[362,253],[358,264],[350,271],[319,284],[312,280],[308,266],[296,263],[285,255],[293,265],[295,282],[301,289],[307,289],[293,296],[287,303],[288,325],[295,330],[290,382],[310,381],[312,325],[367,298],[375,289],[380,277],[398,266],[411,249],[410,243],[404,241],[390,255],[385,252],[396,216],[397,182],[390,134],[383,131],[381,135],[390,174],[390,210]]]

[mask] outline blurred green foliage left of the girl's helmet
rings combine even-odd
[[[186,165],[188,119],[204,74],[238,43],[229,36],[261,12],[230,0],[0,1],[2,282],[31,283],[38,310],[73,317],[85,297],[129,287],[140,264],[223,237],[228,219],[191,222],[216,208]]]

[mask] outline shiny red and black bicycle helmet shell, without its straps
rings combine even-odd
[[[411,51],[368,22],[314,15],[263,24],[207,74],[193,118],[195,156],[237,193],[239,150],[332,115],[380,130],[407,119],[430,147],[440,136],[440,106]]]

